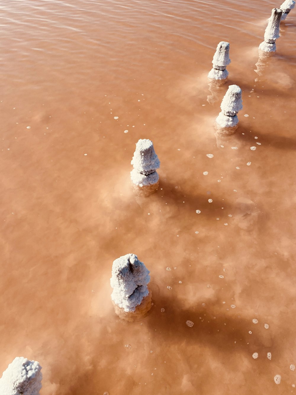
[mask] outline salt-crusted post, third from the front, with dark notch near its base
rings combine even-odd
[[[131,164],[134,167],[131,171],[133,184],[140,187],[157,184],[159,176],[156,169],[159,168],[160,162],[155,154],[152,141],[140,139],[137,142]]]

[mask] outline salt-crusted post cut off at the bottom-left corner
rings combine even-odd
[[[39,395],[42,387],[41,366],[37,361],[16,357],[0,379],[1,395]]]

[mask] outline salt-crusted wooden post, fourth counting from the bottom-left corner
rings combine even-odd
[[[230,85],[221,103],[221,113],[216,122],[222,128],[232,128],[238,124],[237,113],[242,106],[242,90],[238,85]]]

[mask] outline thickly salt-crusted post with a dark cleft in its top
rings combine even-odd
[[[125,312],[135,311],[143,298],[148,296],[148,283],[150,271],[143,262],[138,260],[137,255],[127,254],[117,258],[112,265],[112,277],[110,279],[113,292],[112,301]]]

